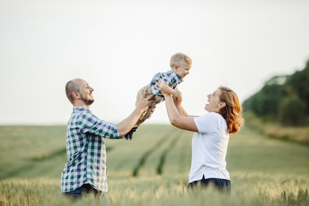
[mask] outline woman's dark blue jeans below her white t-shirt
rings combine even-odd
[[[218,178],[205,179],[204,175],[201,180],[190,182],[187,188],[192,189],[192,190],[196,186],[200,186],[200,188],[205,188],[209,184],[213,184],[213,186],[222,193],[231,193],[231,181],[230,180],[218,179]]]

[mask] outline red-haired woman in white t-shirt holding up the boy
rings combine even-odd
[[[164,82],[157,85],[164,95],[170,123],[178,128],[194,131],[188,188],[193,189],[197,183],[202,186],[213,183],[220,191],[230,192],[230,175],[225,161],[229,134],[236,133],[244,123],[236,93],[228,87],[220,86],[207,95],[205,110],[208,113],[191,116],[181,104],[174,104],[170,94],[162,91],[167,86]]]

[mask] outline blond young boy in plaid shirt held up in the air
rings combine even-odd
[[[187,56],[184,53],[176,53],[171,57],[170,60],[170,66],[171,70],[167,72],[159,72],[154,75],[152,81],[150,84],[142,87],[136,96],[136,101],[139,101],[143,91],[145,88],[147,88],[146,96],[149,96],[151,94],[154,94],[153,99],[155,99],[155,102],[151,104],[148,109],[140,116],[139,120],[133,127],[134,131],[135,129],[141,125],[145,120],[149,119],[152,115],[152,109],[154,106],[162,101],[164,101],[164,96],[162,93],[156,89],[154,86],[156,86],[155,82],[157,81],[164,81],[167,85],[173,84],[173,88],[168,87],[166,88],[167,93],[172,94],[175,97],[180,96],[180,91],[177,89],[177,86],[179,83],[183,82],[183,79],[189,74],[189,70],[191,68],[192,60],[189,56]],[[129,138],[130,140],[132,139],[132,135],[125,136],[124,138]]]

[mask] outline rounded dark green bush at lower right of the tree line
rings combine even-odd
[[[305,111],[306,103],[297,95],[289,95],[279,106],[279,121],[284,125],[303,125],[306,122]]]

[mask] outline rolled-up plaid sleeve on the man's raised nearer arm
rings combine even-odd
[[[83,112],[78,118],[80,132],[110,139],[120,139],[117,124],[100,120],[95,115]]]

